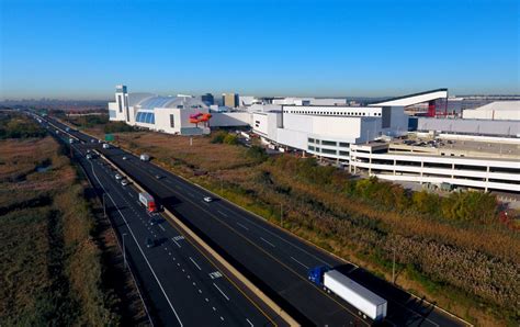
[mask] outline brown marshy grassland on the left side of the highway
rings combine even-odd
[[[0,135],[1,325],[118,324],[75,168],[25,116],[0,112]]]

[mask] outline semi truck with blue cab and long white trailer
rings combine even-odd
[[[363,317],[380,322],[386,317],[387,302],[341,272],[320,266],[308,271],[308,279],[327,293],[335,293],[358,308]]]

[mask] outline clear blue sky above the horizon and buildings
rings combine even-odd
[[[520,93],[518,0],[0,0],[0,98]]]

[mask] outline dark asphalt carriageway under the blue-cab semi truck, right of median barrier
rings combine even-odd
[[[60,127],[59,122],[52,121]],[[72,134],[89,143],[91,137]],[[304,325],[369,325],[339,297],[307,281],[309,268],[340,267],[346,274],[388,301],[385,323],[395,326],[461,326],[465,322],[434,305],[316,248],[225,200],[206,203],[206,190],[118,148],[100,149],[138,181],[264,293]],[[123,156],[127,157],[126,160]],[[157,179],[159,174],[162,178]],[[160,252],[160,251],[159,251]],[[168,258],[162,253],[161,258]]]

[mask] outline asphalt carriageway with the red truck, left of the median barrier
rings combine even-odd
[[[108,194],[108,208],[120,235],[127,236],[127,257],[133,260],[138,273],[144,274],[140,280],[151,300],[151,313],[158,317],[156,323],[181,326],[272,324],[230,284],[227,277],[186,241],[180,230],[159,215],[155,217],[158,224],[151,225],[150,216],[137,202],[138,193],[134,188],[122,187],[113,178],[115,172],[102,165],[100,159],[87,160],[83,157],[84,153],[78,159],[94,187]],[[154,237],[158,245],[146,248],[147,237]]]

